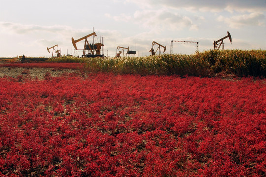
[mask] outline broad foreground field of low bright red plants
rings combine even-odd
[[[266,79],[0,78],[0,176],[263,177]]]

